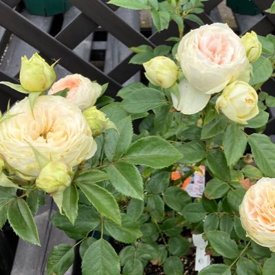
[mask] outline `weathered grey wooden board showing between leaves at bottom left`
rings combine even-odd
[[[41,247],[25,241],[19,241],[17,253],[14,258],[11,275],[43,275],[47,265],[47,258],[54,245],[67,243],[73,245],[74,240],[69,239],[61,230],[54,228],[49,219],[56,212],[52,199],[47,198],[47,205],[42,206],[34,217],[36,222]],[[67,275],[72,274],[72,269]]]

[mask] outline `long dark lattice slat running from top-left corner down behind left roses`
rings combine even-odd
[[[83,61],[72,50],[56,41],[52,36],[36,28],[20,14],[15,13],[8,5],[0,1],[0,25],[7,28],[27,43],[40,50],[47,58],[61,58],[61,65],[70,72],[83,74],[91,79],[98,79],[99,83],[109,82],[110,91],[117,91],[121,85],[105,76],[98,68]]]

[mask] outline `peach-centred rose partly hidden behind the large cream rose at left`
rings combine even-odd
[[[102,91],[102,87],[96,82],[91,82],[89,78],[85,78],[81,74],[71,74],[56,81],[48,94],[55,94],[66,88],[69,89],[67,100],[82,111],[94,106]]]

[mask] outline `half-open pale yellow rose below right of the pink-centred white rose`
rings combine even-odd
[[[248,83],[235,81],[217,98],[216,109],[234,122],[248,124],[259,113],[258,94]]]

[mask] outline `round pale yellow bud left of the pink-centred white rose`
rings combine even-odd
[[[146,78],[155,86],[171,87],[177,80],[177,65],[166,56],[157,56],[143,64]]]

